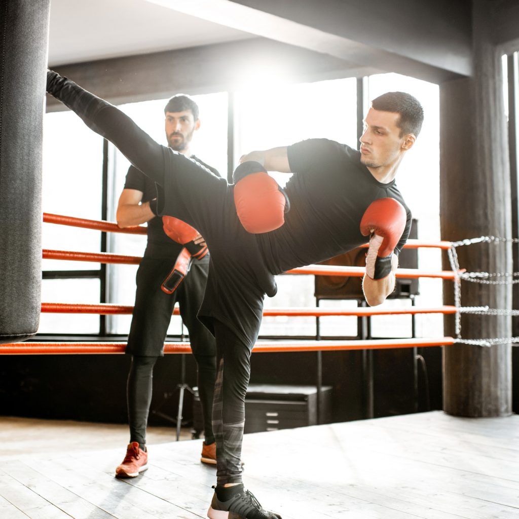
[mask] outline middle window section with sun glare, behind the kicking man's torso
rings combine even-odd
[[[262,85],[264,87],[264,85]],[[235,95],[235,163],[254,149],[286,146],[311,138],[327,138],[357,147],[357,81],[336,79],[299,85],[276,85]],[[290,175],[272,173],[284,185]],[[265,307],[315,306],[313,276],[278,276],[278,293],[265,298]],[[324,305],[325,303],[323,303]],[[331,303],[333,304],[333,303]],[[357,323],[342,319],[330,335],[356,335]],[[261,335],[315,335],[312,317],[269,317]]]

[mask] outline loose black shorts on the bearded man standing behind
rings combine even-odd
[[[137,271],[135,306],[126,353],[145,357],[162,356],[173,307],[178,302],[193,353],[216,354],[214,337],[197,318],[206,288],[209,257],[194,260],[179,288],[173,294],[166,294],[160,285],[171,271],[174,261],[174,258],[143,257]]]

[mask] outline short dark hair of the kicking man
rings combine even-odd
[[[424,108],[418,99],[406,92],[386,92],[371,102],[375,110],[400,114],[398,127],[400,136],[413,133],[416,137],[420,133],[424,122]]]

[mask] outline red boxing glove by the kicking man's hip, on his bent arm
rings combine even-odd
[[[259,162],[241,163],[233,173],[233,181],[236,212],[248,233],[268,233],[284,224],[289,199]]]

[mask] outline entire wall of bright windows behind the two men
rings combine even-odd
[[[261,90],[241,90],[233,94],[234,157],[254,149],[290,145],[309,138],[327,138],[357,147],[357,84],[355,78],[318,81],[298,85],[262,85]],[[391,90],[407,91],[424,105],[426,120],[422,133],[412,152],[405,157],[397,183],[414,217],[418,220],[418,237],[440,239],[439,225],[439,91],[425,81],[382,74],[368,78],[367,98]],[[201,128],[195,134],[192,152],[200,159],[227,173],[227,121],[229,112],[226,92],[195,95],[200,107]],[[121,109],[134,119],[157,142],[166,143],[163,127],[163,108],[167,99],[132,103]],[[70,112],[47,114],[44,140],[45,212],[101,219],[102,198],[106,196],[107,220],[115,221],[115,212],[124,187],[129,163],[112,145],[104,157],[108,165],[108,186],[102,189],[103,140]],[[281,185],[290,175],[274,173]],[[427,196],[424,185],[427,182]],[[45,249],[100,250],[99,231],[44,224]],[[117,254],[142,256],[146,237],[108,233],[107,251]],[[422,269],[440,269],[440,252],[435,249],[419,250]],[[107,296],[111,303],[133,305],[135,297],[134,265],[107,265]],[[44,261],[47,278],[44,279],[43,301],[83,302],[100,301],[101,271],[95,263]],[[70,275],[66,271],[71,271]],[[74,272],[75,271],[75,272]],[[81,275],[82,271],[83,275]],[[56,279],[51,279],[51,274]],[[44,273],[44,277],[45,277]],[[91,276],[85,278],[85,276]],[[92,279],[92,276],[97,279]],[[82,279],[85,278],[85,279]],[[279,290],[274,298],[265,299],[265,307],[315,306],[313,276],[278,276]],[[442,304],[441,281],[420,280],[419,306]],[[355,301],[325,300],[321,306],[350,308]],[[395,299],[389,305],[409,305],[408,299]],[[372,321],[374,336],[405,336],[409,334],[409,316],[375,317]],[[438,335],[442,316],[418,316],[418,335]],[[131,316],[107,316],[108,334],[128,334]],[[96,315],[42,315],[40,333],[100,333],[100,318]],[[183,332],[181,320],[174,317],[168,333]],[[323,336],[356,336],[357,318],[321,318]],[[267,317],[263,321],[262,336],[313,336],[315,318]]]

